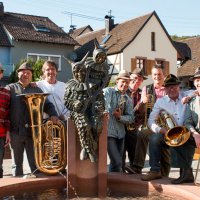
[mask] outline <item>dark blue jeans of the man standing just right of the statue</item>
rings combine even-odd
[[[108,137],[108,156],[110,158],[109,172],[122,171],[122,156],[124,151],[124,138]]]

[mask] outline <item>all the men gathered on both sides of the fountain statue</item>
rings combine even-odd
[[[43,67],[43,73],[47,81],[44,84],[48,86],[49,80],[48,87],[52,91],[59,83],[59,87],[62,87],[59,88],[60,91],[64,91],[65,85],[56,80],[56,65],[46,62],[44,66],[46,68]],[[0,67],[1,74],[3,74],[2,67]],[[24,112],[24,103],[19,102],[16,96],[43,91],[31,85],[33,69],[28,63],[23,63],[17,74],[19,78],[17,83],[8,85],[6,90],[4,87],[0,88],[0,178],[3,177],[4,147],[10,141],[14,155],[13,176],[23,175],[24,149],[31,171],[36,170],[30,127],[24,125],[27,124],[24,122],[29,117]],[[173,184],[194,182],[192,160],[195,148],[200,148],[200,68],[196,69],[192,77],[196,90],[190,93],[182,92],[179,79],[173,74],[165,75],[161,66],[156,65],[152,68],[153,84],[144,86],[141,90],[140,86],[145,79],[147,77],[143,75],[141,69],[137,68],[131,73],[123,70],[117,76],[116,86],[103,90],[105,113],[109,119],[109,171],[141,174],[149,148],[150,171],[142,175],[142,180],[168,177],[170,167],[176,167],[180,168],[180,177],[172,180]],[[53,103],[47,100],[45,106],[46,112],[54,122],[58,117],[66,118],[62,112],[58,116],[58,111],[55,110],[58,106],[53,104],[57,102],[57,98],[60,98],[57,94],[52,96]],[[62,104],[64,105],[64,102]],[[178,135],[180,141],[177,145],[169,145],[166,142],[169,129],[158,123],[158,116],[163,110],[175,121],[175,127],[187,128],[186,132],[180,133],[180,137]],[[13,119],[9,122],[10,115]],[[181,134],[188,137],[182,137]],[[125,162],[126,154],[129,164]]]

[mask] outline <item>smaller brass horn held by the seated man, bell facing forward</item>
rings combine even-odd
[[[172,116],[165,110],[161,110],[157,123],[167,129],[165,143],[172,147],[183,145],[190,137],[190,132],[184,126],[177,126]]]

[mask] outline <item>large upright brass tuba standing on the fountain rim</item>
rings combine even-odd
[[[22,94],[27,104],[37,168],[47,175],[58,174],[67,164],[65,127],[62,121],[43,124],[43,107],[48,93]]]

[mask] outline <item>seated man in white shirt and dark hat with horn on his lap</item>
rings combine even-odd
[[[161,174],[161,160],[162,160],[162,150],[169,149],[171,152],[171,163],[170,157],[165,157],[165,162],[168,165],[171,164],[171,167],[180,167],[184,165],[181,162],[177,162],[178,158],[184,158],[181,153],[181,149],[188,148],[188,151],[193,149],[188,145],[190,143],[186,142],[188,137],[188,131],[182,127],[184,122],[184,117],[186,114],[186,104],[183,104],[182,98],[186,96],[183,92],[180,91],[180,81],[179,79],[173,75],[169,74],[164,81],[164,87],[166,90],[166,94],[164,97],[158,99],[154,104],[153,110],[150,114],[148,120],[148,126],[152,130],[153,134],[150,135],[149,138],[149,164],[150,171],[142,176],[142,180],[151,181],[154,179],[162,178]],[[159,123],[159,117],[162,116],[162,113],[167,114],[165,117],[165,123]],[[162,117],[161,117],[162,118]],[[178,129],[184,130],[184,132],[180,132],[182,134],[172,134],[169,135],[167,126],[171,127],[172,125],[168,125],[169,119],[174,123],[174,127],[180,127]],[[172,126],[172,127],[173,127]],[[169,138],[174,138],[170,139]],[[179,136],[181,136],[179,138]],[[183,136],[183,137],[182,137]],[[176,141],[176,142],[175,142]],[[176,153],[176,154],[175,154]],[[186,157],[185,157],[186,158]],[[190,164],[190,163],[188,163]],[[192,174],[191,174],[192,175]],[[192,181],[189,178],[187,180]],[[182,183],[181,181],[172,181],[172,183]]]

